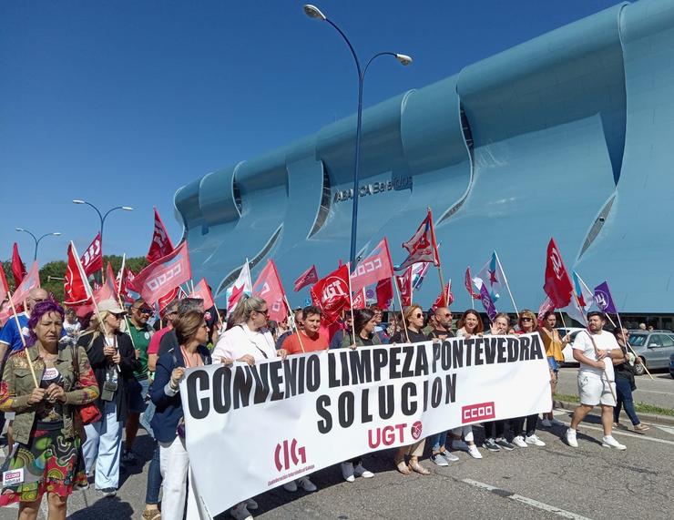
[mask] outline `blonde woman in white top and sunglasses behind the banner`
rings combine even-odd
[[[257,296],[242,296],[231,313],[231,326],[220,336],[213,349],[213,362],[229,363],[235,360],[253,365],[277,357],[284,360],[288,352],[285,349],[276,350],[274,339],[267,329],[267,321],[267,302]],[[254,500],[244,500],[231,508],[230,515],[236,520],[248,520],[252,518],[249,510],[257,508],[258,504]]]

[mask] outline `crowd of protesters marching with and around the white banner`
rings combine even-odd
[[[50,518],[65,518],[68,496],[90,484],[102,495],[116,495],[122,467],[139,464],[134,452],[139,425],[154,443],[142,517],[198,518],[179,395],[179,382],[190,367],[251,365],[302,352],[538,331],[554,394],[564,360],[562,350],[571,341],[568,335],[560,336],[552,311],[540,323],[532,311],[519,312],[514,323],[500,313],[485,330],[482,317],[473,310],[458,317],[454,327],[454,314],[444,306],[424,312],[412,304],[401,313],[390,312],[385,324],[383,311],[373,306],[347,310],[329,331],[317,307],[295,310],[287,320],[276,323],[269,320],[266,301],[247,296],[227,316],[226,327],[217,309],[205,310],[203,301],[194,298],[170,302],[158,326],[150,325],[155,311],[142,299],[128,309],[117,301],[101,301],[97,313],[78,319],[72,310],[64,311],[46,291],[37,289],[30,293],[25,308],[0,331],[0,359],[4,360],[0,411],[11,421],[9,453],[2,471],[22,474],[20,482],[5,484],[0,505],[18,502],[20,518],[36,518],[45,494]],[[600,312],[590,312],[588,322],[587,333],[578,334],[573,342],[574,357],[580,363],[580,405],[565,434],[566,442],[577,447],[578,423],[600,405],[603,445],[624,450],[611,434],[621,407],[634,431],[648,430],[634,412],[631,366],[635,360],[627,349],[627,331],[604,331],[606,321]],[[536,413],[484,423],[482,448],[500,452],[545,446],[536,435],[538,421]],[[560,424],[553,418],[551,403],[541,426]],[[438,466],[459,460],[453,451],[465,451],[475,459],[483,456],[473,427],[465,425],[435,433],[428,443],[422,438],[398,448],[392,467],[401,474],[430,474],[422,464],[426,444],[430,462]],[[347,482],[373,478],[366,465],[366,454],[344,461],[342,477]],[[317,490],[310,476],[283,487],[289,493],[298,488]],[[230,515],[238,520],[252,518],[250,511],[257,508],[248,499],[235,505]]]

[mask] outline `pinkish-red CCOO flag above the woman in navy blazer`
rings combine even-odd
[[[141,270],[131,289],[138,291],[148,305],[153,305],[162,295],[190,278],[192,269],[189,265],[188,243],[184,241],[170,254]]]

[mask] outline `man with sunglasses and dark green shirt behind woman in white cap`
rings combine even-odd
[[[148,345],[155,332],[154,328],[148,325],[148,320],[154,313],[145,300],[138,298],[131,305],[131,316],[127,321],[127,333],[136,351],[136,359],[140,362],[140,369],[133,374],[136,381],[128,387],[127,441],[122,455],[122,462],[128,464],[136,464],[138,461],[133,453],[133,444],[138,433],[140,414],[145,411],[145,397],[148,395]]]

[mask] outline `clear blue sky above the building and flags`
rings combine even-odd
[[[423,87],[615,1],[315,0],[368,73],[365,107]],[[104,250],[145,255],[158,207],[174,241],[173,194],[209,171],[278,148],[355,111],[348,48],[296,1],[4,0],[0,3],[0,259],[84,250],[93,209],[117,205]]]

